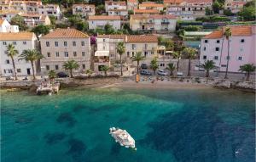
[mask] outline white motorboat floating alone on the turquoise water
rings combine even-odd
[[[115,142],[119,142],[121,146],[125,146],[125,148],[133,148],[137,150],[135,147],[135,141],[131,137],[131,135],[122,129],[119,128],[109,128],[109,134],[114,138]]]

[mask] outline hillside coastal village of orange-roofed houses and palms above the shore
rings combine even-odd
[[[255,29],[252,0],[1,0],[1,82],[241,81],[254,91]]]

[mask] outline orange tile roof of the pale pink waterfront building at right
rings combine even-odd
[[[217,39],[222,38],[224,29],[230,27],[232,36],[251,36],[254,32],[255,26],[253,25],[236,25],[236,26],[226,26],[222,30],[212,31],[211,34],[208,34],[204,38],[206,39]]]

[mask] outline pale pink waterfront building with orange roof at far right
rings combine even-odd
[[[229,26],[230,57],[228,57],[228,40],[224,38],[224,30],[212,31],[201,39],[200,63],[213,60],[220,71],[225,71],[230,59],[229,72],[239,72],[243,64],[255,64],[255,25]]]

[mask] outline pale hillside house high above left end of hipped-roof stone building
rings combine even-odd
[[[45,4],[38,6],[38,14],[45,16],[55,16],[57,19],[61,18],[61,9],[56,4]]]

